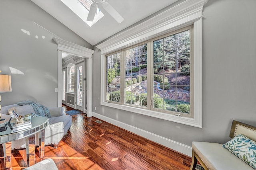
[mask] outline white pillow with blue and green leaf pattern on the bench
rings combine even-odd
[[[236,137],[223,145],[224,148],[235,154],[248,165],[256,170],[256,142],[252,141],[243,134]]]

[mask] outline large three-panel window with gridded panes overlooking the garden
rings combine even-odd
[[[106,55],[106,101],[192,117],[191,29]]]

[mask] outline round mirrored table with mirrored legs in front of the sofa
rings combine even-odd
[[[11,156],[11,145],[12,141],[16,141],[18,139],[25,138],[25,143],[26,143],[26,157],[27,157],[27,165],[30,166],[30,157],[32,157],[31,164],[34,164],[35,161],[35,153],[30,153],[29,152],[29,145],[31,140],[29,140],[29,137],[32,135],[35,135],[35,138],[32,141],[32,145],[34,145],[35,148],[35,143],[38,139],[39,141],[39,155],[40,158],[44,156],[44,131],[45,128],[49,125],[49,119],[47,117],[32,117],[31,119],[31,124],[32,127],[21,130],[21,131],[16,131],[13,132],[12,126],[14,123],[10,123],[10,121],[5,125],[6,130],[0,132],[0,144],[2,144],[3,151],[4,151],[4,167],[9,168],[10,167],[10,161],[8,157],[10,158]]]

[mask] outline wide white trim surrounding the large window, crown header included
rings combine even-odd
[[[101,99],[103,106],[114,107],[202,128],[202,10],[208,0],[186,0],[143,23],[140,23],[118,35],[104,41],[96,47],[101,50]],[[168,113],[140,109],[105,102],[105,55],[140,42],[164,35],[165,33],[194,25],[194,118],[180,117]]]

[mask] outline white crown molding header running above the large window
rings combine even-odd
[[[202,18],[208,0],[186,0],[114,37],[96,45],[102,54],[111,53],[184,27]]]

